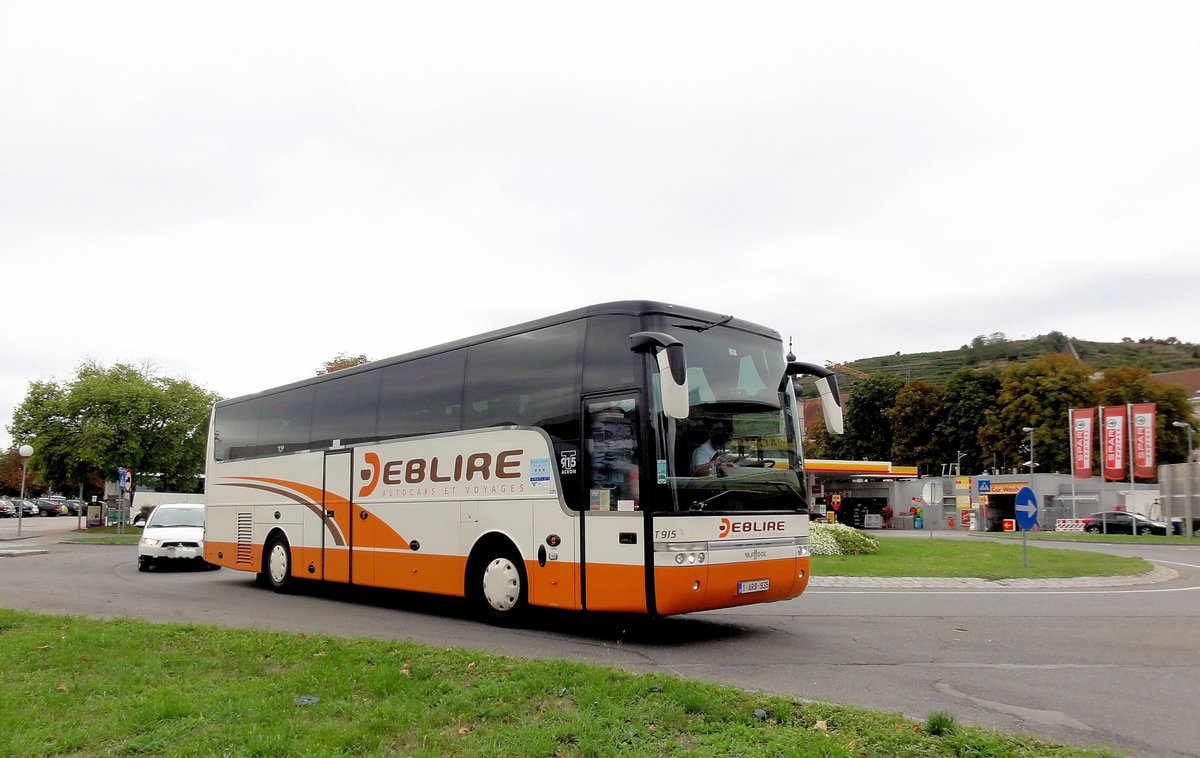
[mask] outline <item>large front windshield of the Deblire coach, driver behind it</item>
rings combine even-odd
[[[658,506],[804,511],[796,403],[779,391],[780,341],[721,325],[661,327],[684,344],[690,410],[678,421],[656,417],[668,488]]]

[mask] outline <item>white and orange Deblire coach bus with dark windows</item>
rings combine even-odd
[[[590,306],[216,403],[205,560],[296,579],[668,615],[796,597],[809,516],[779,335]]]

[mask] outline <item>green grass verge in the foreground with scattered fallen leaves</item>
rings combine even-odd
[[[7,609],[0,703],[20,758],[1114,754],[665,674]]]

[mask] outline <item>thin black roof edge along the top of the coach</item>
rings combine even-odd
[[[230,397],[223,401],[218,401],[217,405],[226,405],[232,403],[239,403],[241,401],[251,399],[254,397],[262,397],[266,395],[274,395],[276,392],[282,392],[284,390],[293,390],[296,387],[302,387],[306,385],[320,384],[323,381],[330,381],[335,378],[348,377],[352,374],[374,371],[377,368],[383,368],[384,366],[390,366],[392,363],[402,363],[404,361],[410,361],[419,357],[425,357],[427,355],[437,355],[439,353],[449,353],[450,350],[456,350],[458,348],[469,347],[473,344],[480,344],[485,342],[491,342],[493,339],[502,339],[504,337],[510,337],[512,335],[520,335],[528,331],[534,331],[538,329],[544,329],[546,326],[554,326],[557,324],[564,324],[566,321],[574,321],[576,319],[587,318],[590,315],[667,315],[678,317],[686,319],[689,321],[700,321],[701,324],[708,324],[712,326],[721,325],[731,329],[737,329],[740,331],[746,331],[756,335],[762,335],[764,337],[772,337],[779,339],[779,332],[768,326],[762,326],[761,324],[755,324],[752,321],[746,321],[744,319],[733,318],[732,315],[722,315],[720,313],[714,313],[712,311],[702,311],[700,308],[689,308],[686,306],[677,306],[667,302],[658,302],[654,300],[620,300],[614,302],[604,302],[599,305],[584,306],[582,308],[576,308],[574,311],[566,311],[563,313],[556,313],[554,315],[547,315],[533,321],[526,321],[523,324],[515,324],[512,326],[505,326],[490,332],[484,332],[475,335],[473,337],[463,337],[461,339],[455,339],[454,342],[446,342],[431,348],[422,348],[420,350],[414,350],[412,353],[404,353],[401,355],[395,355],[391,357],[379,359],[377,361],[371,361],[368,363],[362,363],[361,366],[354,366],[350,368],[343,368],[328,374],[320,374],[317,377],[310,377],[307,379],[300,379],[290,384],[280,385],[276,387],[270,387],[260,392],[253,392],[251,395],[242,395],[239,397]]]

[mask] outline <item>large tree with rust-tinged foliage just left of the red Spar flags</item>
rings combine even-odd
[[[1067,445],[1067,411],[1096,404],[1092,369],[1063,355],[1014,363],[1001,374],[998,409],[989,409],[979,431],[984,459],[994,457],[1002,468],[1018,468],[1030,458],[1033,427],[1033,455],[1037,471],[1070,470]]]

